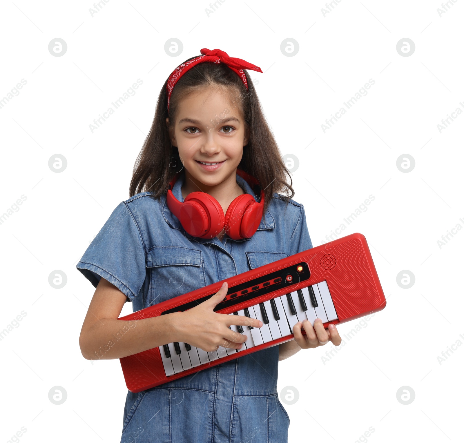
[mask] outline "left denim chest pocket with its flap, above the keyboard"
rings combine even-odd
[[[203,257],[199,249],[154,246],[147,253],[147,272],[150,272],[147,306],[206,285]]]

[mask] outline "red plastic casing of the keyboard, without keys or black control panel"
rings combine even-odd
[[[374,267],[374,262],[367,246],[366,238],[360,233],[354,233],[346,237],[338,238],[333,242],[316,246],[315,248],[299,252],[277,262],[269,263],[259,268],[238,274],[210,284],[204,288],[196,289],[184,295],[179,295],[165,302],[154,306],[141,309],[132,314],[120,317],[119,320],[138,321],[149,317],[161,315],[162,312],[170,308],[175,308],[186,302],[199,299],[206,295],[215,294],[223,282],[227,282],[229,288],[234,285],[250,281],[254,278],[264,276],[272,271],[306,262],[309,265],[311,276],[309,280],[288,285],[266,295],[253,298],[245,302],[239,302],[229,308],[218,310],[218,313],[230,314],[243,308],[254,306],[265,302],[296,289],[308,287],[322,281],[327,281],[330,295],[334,302],[338,320],[324,323],[328,327],[329,323],[341,323],[362,317],[385,308],[386,300],[379,277]],[[236,300],[239,300],[237,297]],[[304,332],[304,331],[303,331]],[[293,334],[272,340],[267,343],[245,349],[239,353],[227,355],[213,362],[196,366],[178,374],[166,376],[161,361],[161,354],[158,347],[146,351],[132,354],[120,359],[122,372],[126,380],[126,385],[131,392],[141,392],[145,389],[167,383],[168,381],[185,377],[202,369],[219,365],[228,360],[239,358],[245,354],[260,351],[271,346],[276,346],[285,341],[293,339]]]

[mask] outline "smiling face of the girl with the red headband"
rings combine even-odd
[[[233,174],[235,182],[248,138],[241,111],[224,90],[206,88],[180,100],[170,137],[187,178],[216,186]]]

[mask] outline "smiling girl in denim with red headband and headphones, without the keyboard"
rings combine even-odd
[[[262,322],[213,311],[226,283],[185,312],[136,327],[117,318],[126,301],[136,311],[312,248],[303,205],[290,199],[290,174],[244,69],[262,71],[218,49],[201,54],[163,85],[131,197],[77,264],[97,288],[79,337],[86,359],[119,359],[175,341],[205,351],[240,349],[246,336],[229,326]],[[195,197],[203,209],[181,205]],[[320,319],[314,328],[297,323],[293,334],[295,340],[193,377],[128,392],[121,442],[286,442],[290,419],[277,397],[278,361],[341,343],[336,327],[326,330]]]

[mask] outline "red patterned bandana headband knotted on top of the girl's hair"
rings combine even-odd
[[[213,63],[223,63],[226,66],[228,66],[232,71],[234,71],[238,77],[240,77],[243,80],[243,83],[245,84],[246,90],[248,90],[248,83],[246,83],[246,76],[245,72],[243,71],[244,69],[251,69],[253,71],[258,71],[258,72],[263,72],[261,71],[261,68],[258,66],[255,66],[254,64],[245,62],[245,60],[242,60],[241,58],[235,58],[235,57],[229,57],[226,52],[221,51],[220,49],[213,49],[209,50],[206,48],[203,48],[200,51],[201,55],[199,57],[195,57],[192,60],[188,60],[185,63],[182,63],[181,65],[177,66],[176,69],[172,72],[172,74],[168,78],[168,110],[169,110],[169,100],[171,98],[171,93],[174,89],[175,84],[177,81],[182,77],[190,68],[193,68],[193,66],[203,63],[203,62],[213,62]]]

